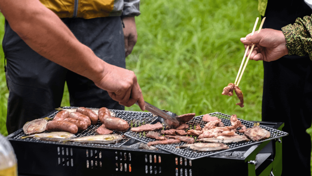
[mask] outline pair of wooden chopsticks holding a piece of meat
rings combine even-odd
[[[263,26],[263,23],[264,23],[264,20],[265,20],[265,19],[266,19],[266,17],[264,17],[264,18],[262,19],[257,34],[258,34],[258,33],[260,32],[260,30],[262,29],[262,26]],[[259,17],[257,17],[257,19],[256,19],[256,23],[255,23],[255,25],[254,25],[254,28],[252,29],[251,35],[253,35],[254,32],[255,32],[255,30],[256,30],[256,26],[257,26],[258,20],[259,20]],[[248,45],[247,48],[246,48],[246,51],[245,51],[243,60],[241,61],[241,66],[239,67],[239,70],[238,70],[238,73],[237,73],[237,76],[236,76],[236,80],[235,80],[235,82],[234,82],[234,84],[235,84],[237,87],[238,87],[238,85],[239,85],[239,82],[241,81],[241,77],[243,76],[243,73],[244,73],[244,71],[245,71],[245,69],[246,69],[246,65],[247,65],[247,63],[248,63],[248,60],[249,60],[249,58],[250,58],[250,56],[251,56],[251,53],[252,53],[252,50],[254,49],[254,47],[255,47],[255,44],[252,44],[251,49],[250,49],[250,52],[249,52],[248,57],[247,57],[247,60],[246,60],[245,65],[244,65],[244,67],[243,67],[243,70],[241,71],[241,67],[242,67],[243,64],[244,64],[245,57],[246,57],[247,52],[248,52],[248,49],[249,49],[249,45]],[[238,79],[238,76],[239,76],[239,79]],[[237,84],[236,84],[237,79],[238,79],[238,82],[237,82]]]

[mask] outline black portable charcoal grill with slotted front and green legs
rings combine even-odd
[[[133,127],[158,121],[157,117],[149,112],[111,111],[116,113],[116,117],[128,121]],[[53,118],[56,113],[57,111],[52,111],[49,117]],[[227,115],[222,114],[222,116]],[[194,117],[194,120],[198,119],[200,116]],[[226,118],[222,119],[222,121],[225,120]],[[94,135],[96,128],[100,125],[100,122],[91,125],[76,136]],[[225,125],[227,124],[225,123]],[[266,126],[273,130],[281,130],[284,126],[283,123],[271,122],[261,122],[261,125],[264,125],[261,127]],[[129,136],[129,133],[131,132],[128,130],[120,134]],[[20,176],[227,174],[241,176],[269,175],[270,173],[280,175],[282,145],[280,137],[287,133],[282,132],[264,142],[241,144],[226,152],[209,153],[209,156],[204,154],[205,156],[193,160],[188,159],[189,157],[181,157],[181,153],[173,154],[173,151],[169,153],[170,149],[165,148],[158,151],[123,148],[123,146],[129,146],[146,138],[143,133],[136,135],[138,136],[125,137],[124,140],[116,144],[81,144],[22,139],[21,137],[26,135],[20,129],[7,138],[17,156]]]

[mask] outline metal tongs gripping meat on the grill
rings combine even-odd
[[[166,125],[173,126],[173,127],[179,127],[180,126],[180,122],[175,118],[175,116],[168,115],[165,111],[159,109],[156,106],[149,104],[146,101],[144,101],[144,103],[145,103],[145,109],[147,111],[163,118]],[[135,104],[139,105],[138,102],[136,102]]]

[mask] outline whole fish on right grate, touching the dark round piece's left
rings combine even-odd
[[[235,135],[233,136],[218,136],[218,137],[210,137],[210,138],[201,138],[201,139],[197,139],[197,141],[212,142],[212,143],[232,143],[232,142],[249,141],[249,139],[245,135],[238,135],[235,133]]]

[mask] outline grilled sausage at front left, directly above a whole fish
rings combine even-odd
[[[70,132],[76,134],[78,127],[70,122],[51,120],[46,124],[46,130],[49,132]]]

